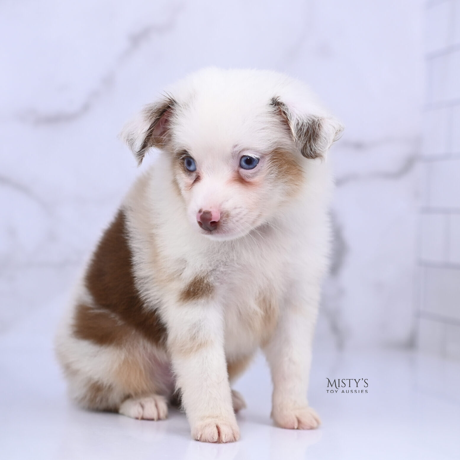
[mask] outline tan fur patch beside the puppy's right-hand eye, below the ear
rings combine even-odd
[[[288,188],[289,195],[295,195],[304,182],[303,169],[292,152],[283,149],[273,150],[268,157],[269,169],[275,180]]]

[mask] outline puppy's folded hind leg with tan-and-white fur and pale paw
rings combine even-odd
[[[154,346],[101,346],[69,337],[57,349],[70,397],[82,408],[162,420],[173,391],[169,362]]]

